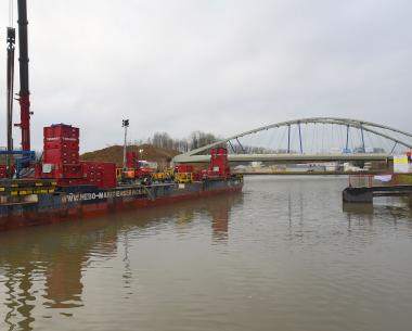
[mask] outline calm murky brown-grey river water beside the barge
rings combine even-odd
[[[0,330],[411,330],[412,212],[339,177],[0,233]]]

